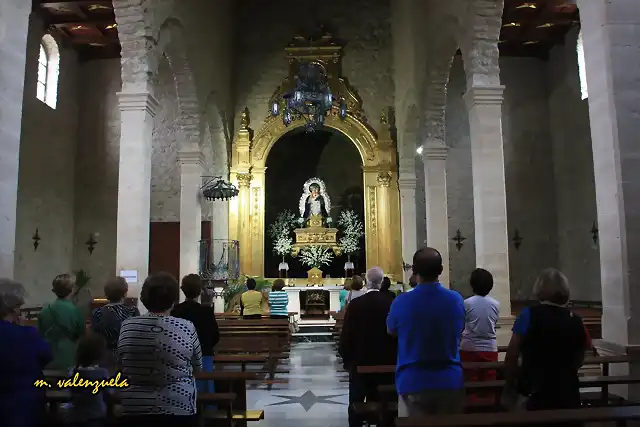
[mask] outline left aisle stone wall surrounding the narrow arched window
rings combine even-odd
[[[60,76],[55,109],[36,98],[38,54],[44,33],[37,16],[27,39],[16,224],[15,278],[28,304],[51,299],[51,281],[73,261],[74,168],[78,130],[78,61],[59,45]],[[38,230],[40,245],[32,236]]]

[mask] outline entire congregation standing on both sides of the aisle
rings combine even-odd
[[[412,292],[396,296],[379,267],[369,269],[364,279],[351,278],[340,292],[344,323],[339,354],[349,373],[349,402],[376,401],[379,385],[395,383],[400,417],[461,413],[468,399],[486,398],[467,396],[465,381],[496,378],[495,371],[463,369],[464,362],[498,360],[500,305],[490,296],[493,277],[485,269],[474,270],[469,283],[473,296],[463,299],[439,282],[443,263],[436,249],[417,251],[412,270]],[[284,286],[276,280],[266,296],[254,279],[247,279],[247,290],[239,297],[243,318],[259,319],[266,312],[274,319],[287,318]],[[11,348],[0,352],[2,425],[40,425],[45,388],[34,383],[44,370],[89,380],[120,372],[128,387],[118,391],[123,409],[119,425],[197,425],[197,393],[213,392],[214,387],[212,381],[196,381],[195,374],[213,370],[220,338],[213,308],[198,302],[201,278],[187,275],[180,286],[167,273],[152,274],[141,288],[140,302],[147,310],[142,315],[125,302],[126,280],[109,280],[104,287],[108,303],[91,314],[90,330],[74,304],[74,289],[72,275],[57,276],[52,282],[55,298],[42,308],[34,328],[23,325],[24,287],[0,279],[0,341]],[[502,404],[527,410],[579,407],[578,369],[591,342],[582,319],[567,308],[568,281],[558,270],[545,270],[534,293],[539,304],[524,309],[513,325]],[[358,371],[377,365],[395,365],[396,372]],[[108,388],[99,393],[73,389],[68,424],[103,426],[113,393]],[[349,425],[363,421],[349,405]]]

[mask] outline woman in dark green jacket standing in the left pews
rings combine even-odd
[[[85,333],[85,319],[71,296],[75,277],[60,274],[53,279],[57,299],[45,305],[38,316],[38,331],[49,343],[53,360],[47,369],[69,369],[76,363],[76,344]]]

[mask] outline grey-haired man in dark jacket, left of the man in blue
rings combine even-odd
[[[349,426],[362,420],[351,405],[378,400],[378,385],[393,384],[393,374],[359,374],[358,366],[395,365],[396,339],[387,334],[387,315],[392,299],[381,294],[384,273],[373,267],[366,274],[367,293],[352,300],[346,308],[339,353],[349,372]]]

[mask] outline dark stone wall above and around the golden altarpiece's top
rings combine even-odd
[[[301,10],[304,10],[301,13]],[[257,19],[256,17],[259,17]],[[241,0],[236,14],[236,123],[249,107],[257,131],[269,112],[269,98],[287,76],[284,48],[296,35],[316,32],[320,25],[346,42],[342,74],[363,100],[376,127],[380,112],[393,105],[391,10],[389,1],[282,0],[278,7]],[[243,25],[246,23],[246,25]]]

